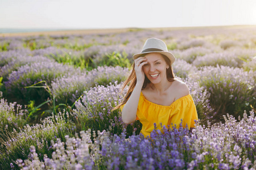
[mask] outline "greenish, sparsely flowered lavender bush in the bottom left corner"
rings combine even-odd
[[[8,138],[1,138],[0,167],[9,169],[10,164],[15,165],[16,159],[28,159],[30,146],[35,146],[39,159],[43,160],[44,154],[52,158],[51,141],[60,138],[65,140],[65,135],[73,137],[76,126],[69,120],[69,113],[58,113],[56,116],[47,117],[41,124],[26,125],[19,132],[14,129]]]

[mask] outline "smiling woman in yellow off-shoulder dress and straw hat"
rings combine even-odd
[[[129,90],[122,103],[122,120],[131,124],[142,123],[141,133],[147,137],[156,128],[195,127],[197,112],[187,85],[174,78],[172,63],[175,57],[168,52],[166,44],[159,39],[146,40],[142,52],[133,56],[134,63],[130,76],[123,84]],[[123,90],[123,89],[122,89]]]

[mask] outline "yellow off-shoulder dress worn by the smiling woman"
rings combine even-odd
[[[124,105],[121,106],[121,111]],[[195,120],[198,120],[196,106],[190,94],[180,97],[170,106],[165,106],[148,101],[141,92],[136,120],[142,123],[141,133],[144,137],[150,136],[151,131],[154,130],[154,123],[156,123],[156,129],[159,130],[161,129],[160,123],[166,128],[168,125],[172,128],[175,124],[176,128],[179,128],[181,119],[183,128],[187,125],[189,129],[194,128]]]

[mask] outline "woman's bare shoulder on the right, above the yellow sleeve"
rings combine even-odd
[[[180,97],[189,95],[189,89],[187,84],[177,79],[174,81],[172,85],[172,92],[175,95],[175,100],[179,99]]]

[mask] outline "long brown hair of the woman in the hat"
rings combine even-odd
[[[168,57],[164,56],[163,54],[161,54],[161,55],[164,58],[164,61],[166,61],[167,65],[169,66],[169,68],[166,69],[167,80],[169,82],[173,82],[174,81],[174,71],[172,71],[171,61],[170,61],[170,59]],[[131,74],[128,76],[128,78],[125,80],[125,82],[123,83],[123,86],[122,86],[122,91],[121,92],[123,92],[123,90],[125,89],[127,84],[130,83],[128,91],[127,91],[127,94],[123,98],[123,101],[120,104],[118,104],[116,107],[113,108],[113,111],[118,109],[118,108],[120,108],[121,105],[123,105],[123,104],[125,104],[127,102],[127,100],[131,96],[131,93],[133,92],[133,90],[134,90],[134,88],[136,86],[137,77],[136,77],[136,74],[135,74],[134,65],[135,65],[135,63],[133,63],[133,65],[131,66]],[[145,76],[144,83],[143,83],[143,86],[142,86],[142,90],[144,88],[146,88],[148,83],[150,83],[150,80],[148,80],[147,76]]]

